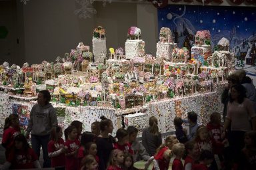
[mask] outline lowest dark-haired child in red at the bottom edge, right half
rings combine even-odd
[[[208,170],[213,162],[214,155],[209,150],[202,150],[199,155],[199,163],[192,165],[192,170]]]

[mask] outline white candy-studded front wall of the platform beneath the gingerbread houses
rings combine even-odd
[[[67,128],[73,120],[79,120],[83,122],[83,131],[91,131],[91,123],[100,121],[100,117],[104,115],[113,121],[113,135],[118,128],[124,125],[137,127],[139,129],[138,136],[140,136],[142,129],[148,126],[149,117],[155,116],[159,120],[159,131],[165,133],[175,131],[173,126],[175,116],[186,118],[187,112],[195,111],[199,115],[198,123],[206,124],[211,113],[221,113],[223,111],[221,92],[223,92],[226,84],[227,82],[216,84],[215,92],[176,97],[157,102],[151,101],[144,106],[124,110],[99,106],[65,106],[57,103],[53,103],[53,106],[56,109],[59,124],[63,128]],[[29,112],[36,101],[13,98],[5,92],[0,93],[0,101],[1,129],[3,130],[5,118],[11,113],[19,114],[21,125],[25,129]],[[127,116],[129,114],[131,115]]]

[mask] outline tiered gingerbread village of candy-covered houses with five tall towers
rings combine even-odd
[[[1,88],[11,87],[13,93],[21,88],[23,94],[16,95],[24,97],[36,96],[45,88],[53,94],[53,102],[59,104],[125,109],[211,92],[215,83],[225,81],[233,71],[234,55],[225,38],[211,54],[209,31],[198,31],[190,55],[187,48],[176,48],[169,29],[161,29],[159,37],[157,56],[145,54],[141,30],[131,27],[125,50],[109,48],[107,54],[105,30],[97,27],[93,31],[93,52],[80,42],[55,63],[43,61],[31,67],[25,63],[19,68],[4,62],[0,66]]]

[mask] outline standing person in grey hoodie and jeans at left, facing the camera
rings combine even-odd
[[[49,135],[53,128],[58,125],[55,108],[49,103],[51,94],[48,90],[42,90],[37,97],[37,104],[30,112],[29,124],[27,126],[26,137],[31,132],[32,149],[40,157],[40,148],[43,149],[43,167],[51,167],[51,160],[48,156],[47,145]]]

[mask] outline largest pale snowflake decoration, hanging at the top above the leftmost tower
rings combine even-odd
[[[79,18],[87,19],[91,18],[93,14],[96,14],[96,9],[93,8],[92,3],[94,0],[75,0],[81,8],[75,9],[75,15],[78,15]]]

